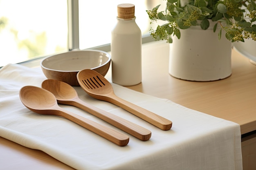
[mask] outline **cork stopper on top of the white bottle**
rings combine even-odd
[[[117,5],[117,17],[128,19],[134,18],[135,15],[135,5],[134,4],[119,4]]]

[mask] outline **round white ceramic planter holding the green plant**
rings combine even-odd
[[[223,31],[222,31],[223,32]],[[222,33],[225,34],[224,32]],[[170,44],[169,74],[190,81],[214,81],[231,75],[231,42],[218,31],[193,26],[181,30]]]

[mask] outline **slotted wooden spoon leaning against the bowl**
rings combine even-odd
[[[171,128],[172,122],[168,119],[117,97],[110,82],[96,71],[85,69],[79,71],[76,77],[83,90],[95,99],[104,100],[124,108],[162,130],[169,130]]]

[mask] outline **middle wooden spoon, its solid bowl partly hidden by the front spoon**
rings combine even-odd
[[[137,137],[142,141],[147,141],[151,137],[151,132],[137,124],[126,119],[113,115],[105,110],[83,102],[77,95],[76,90],[65,82],[59,80],[47,79],[42,83],[42,87],[52,92],[59,104],[67,104],[81,108],[92,115],[124,130],[125,132]]]

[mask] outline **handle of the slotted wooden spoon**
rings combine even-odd
[[[140,117],[141,119],[147,121],[148,123],[153,124],[157,128],[160,128],[162,130],[171,129],[171,126],[173,123],[170,120],[164,117],[161,117],[153,112],[150,112],[144,108],[141,108],[135,104],[132,104],[124,99],[121,99],[120,97],[116,96],[115,93],[109,94],[107,100],[108,102],[115,104],[123,108],[124,110],[127,110],[133,115]]]

